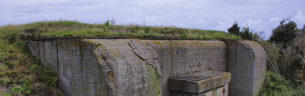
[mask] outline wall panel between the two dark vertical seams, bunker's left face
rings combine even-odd
[[[58,40],[58,76],[60,87],[66,95],[81,95],[80,40]]]

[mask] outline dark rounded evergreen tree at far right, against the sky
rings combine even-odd
[[[291,16],[280,20],[280,25],[272,30],[272,35],[269,38],[270,42],[283,43],[284,45],[292,42],[299,29],[296,27],[296,23],[291,21],[290,18]],[[286,21],[288,21],[288,23],[285,23]]]

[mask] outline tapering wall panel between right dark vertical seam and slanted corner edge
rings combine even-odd
[[[82,89],[79,94],[83,96],[109,95],[105,73],[92,50],[95,47],[87,41],[81,40],[80,43]]]

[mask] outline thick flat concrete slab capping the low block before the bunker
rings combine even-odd
[[[222,71],[198,71],[168,78],[169,90],[202,93],[228,84],[231,73]]]

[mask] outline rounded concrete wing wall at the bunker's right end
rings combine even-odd
[[[229,96],[257,96],[265,80],[266,54],[254,41],[227,41]]]

